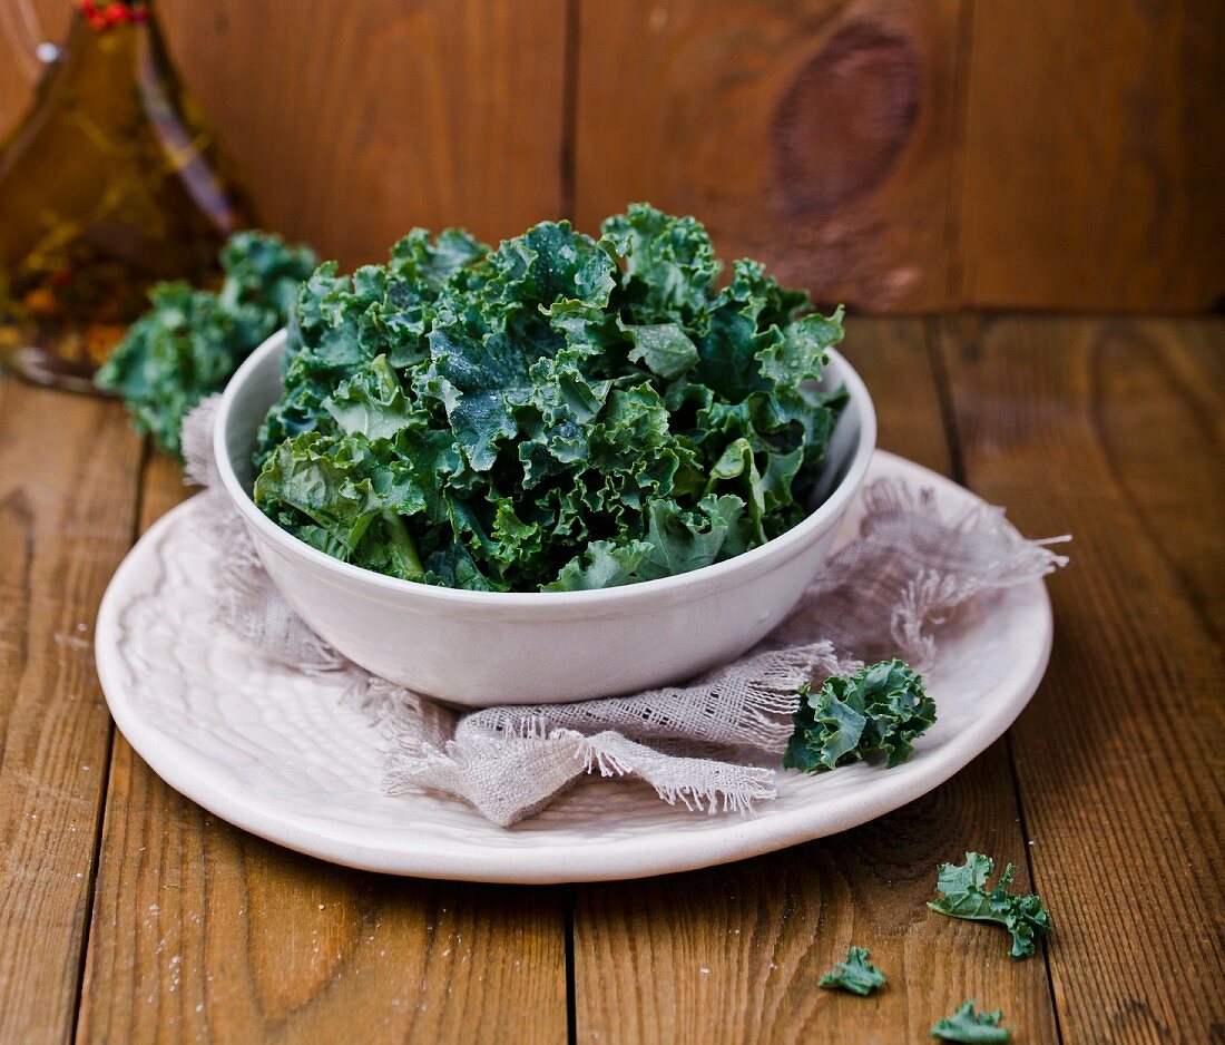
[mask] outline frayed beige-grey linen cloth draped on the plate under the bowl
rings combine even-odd
[[[881,479],[862,492],[859,538],[812,578],[799,606],[755,649],[681,686],[565,704],[461,713],[379,679],[342,657],[268,579],[221,489],[212,453],[217,398],[184,421],[186,481],[203,486],[201,537],[214,555],[214,620],[262,655],[304,675],[348,671],[350,698],[387,738],[390,791],[454,795],[494,823],[533,816],[579,777],[632,775],[669,804],[747,811],[775,795],[801,684],[900,657],[919,671],[936,635],[975,595],[1024,584],[1066,564],[1024,539],[1002,508],[946,518],[932,490]],[[940,714],[940,695],[936,698]]]

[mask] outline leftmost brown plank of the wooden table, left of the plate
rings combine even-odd
[[[118,403],[0,379],[0,1041],[76,1014],[111,735],[93,622],[140,458]]]

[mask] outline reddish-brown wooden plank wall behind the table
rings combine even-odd
[[[864,310],[1225,299],[1220,0],[158,6],[263,222],[345,265],[649,198]]]

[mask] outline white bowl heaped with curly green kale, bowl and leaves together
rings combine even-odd
[[[229,382],[223,488],[341,653],[459,704],[631,692],[758,642],[875,448],[817,311],[693,218],[320,266]]]

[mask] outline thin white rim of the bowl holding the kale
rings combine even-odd
[[[854,402],[860,412],[859,439],[851,452],[850,466],[843,474],[838,485],[829,491],[829,496],[822,501],[815,511],[807,515],[785,533],[760,544],[748,551],[714,562],[710,566],[701,566],[686,573],[675,573],[671,577],[658,577],[653,581],[638,581],[633,584],[620,584],[612,588],[590,588],[579,592],[473,592],[467,588],[447,588],[440,584],[426,584],[421,581],[404,581],[399,577],[390,577],[386,573],[377,573],[366,570],[364,566],[355,566],[352,562],[342,562],[317,548],[311,548],[306,541],[294,537],[287,529],[282,529],[270,519],[255,504],[243,484],[239,481],[230,463],[229,450],[227,447],[225,434],[229,428],[230,412],[239,390],[258,369],[265,358],[282,350],[288,332],[282,328],[267,338],[255,352],[244,360],[243,365],[234,372],[225,391],[222,393],[213,421],[213,455],[217,459],[217,470],[221,474],[222,486],[230,500],[238,506],[243,517],[256,530],[278,545],[287,556],[305,559],[307,562],[331,573],[337,582],[348,581],[376,588],[388,593],[401,595],[412,594],[428,602],[461,604],[467,606],[497,605],[497,606],[532,606],[545,609],[548,606],[573,606],[638,600],[659,595],[665,592],[676,592],[686,587],[696,587],[703,582],[718,579],[733,579],[737,573],[751,571],[766,559],[782,557],[788,550],[797,550],[813,530],[833,518],[840,517],[843,511],[850,505],[851,499],[859,492],[864,477],[867,474],[867,466],[876,450],[876,408],[872,406],[872,397],[869,394],[864,379],[846,361],[842,353],[829,349],[831,361],[835,361],[842,371],[843,383],[846,388],[850,402]]]

